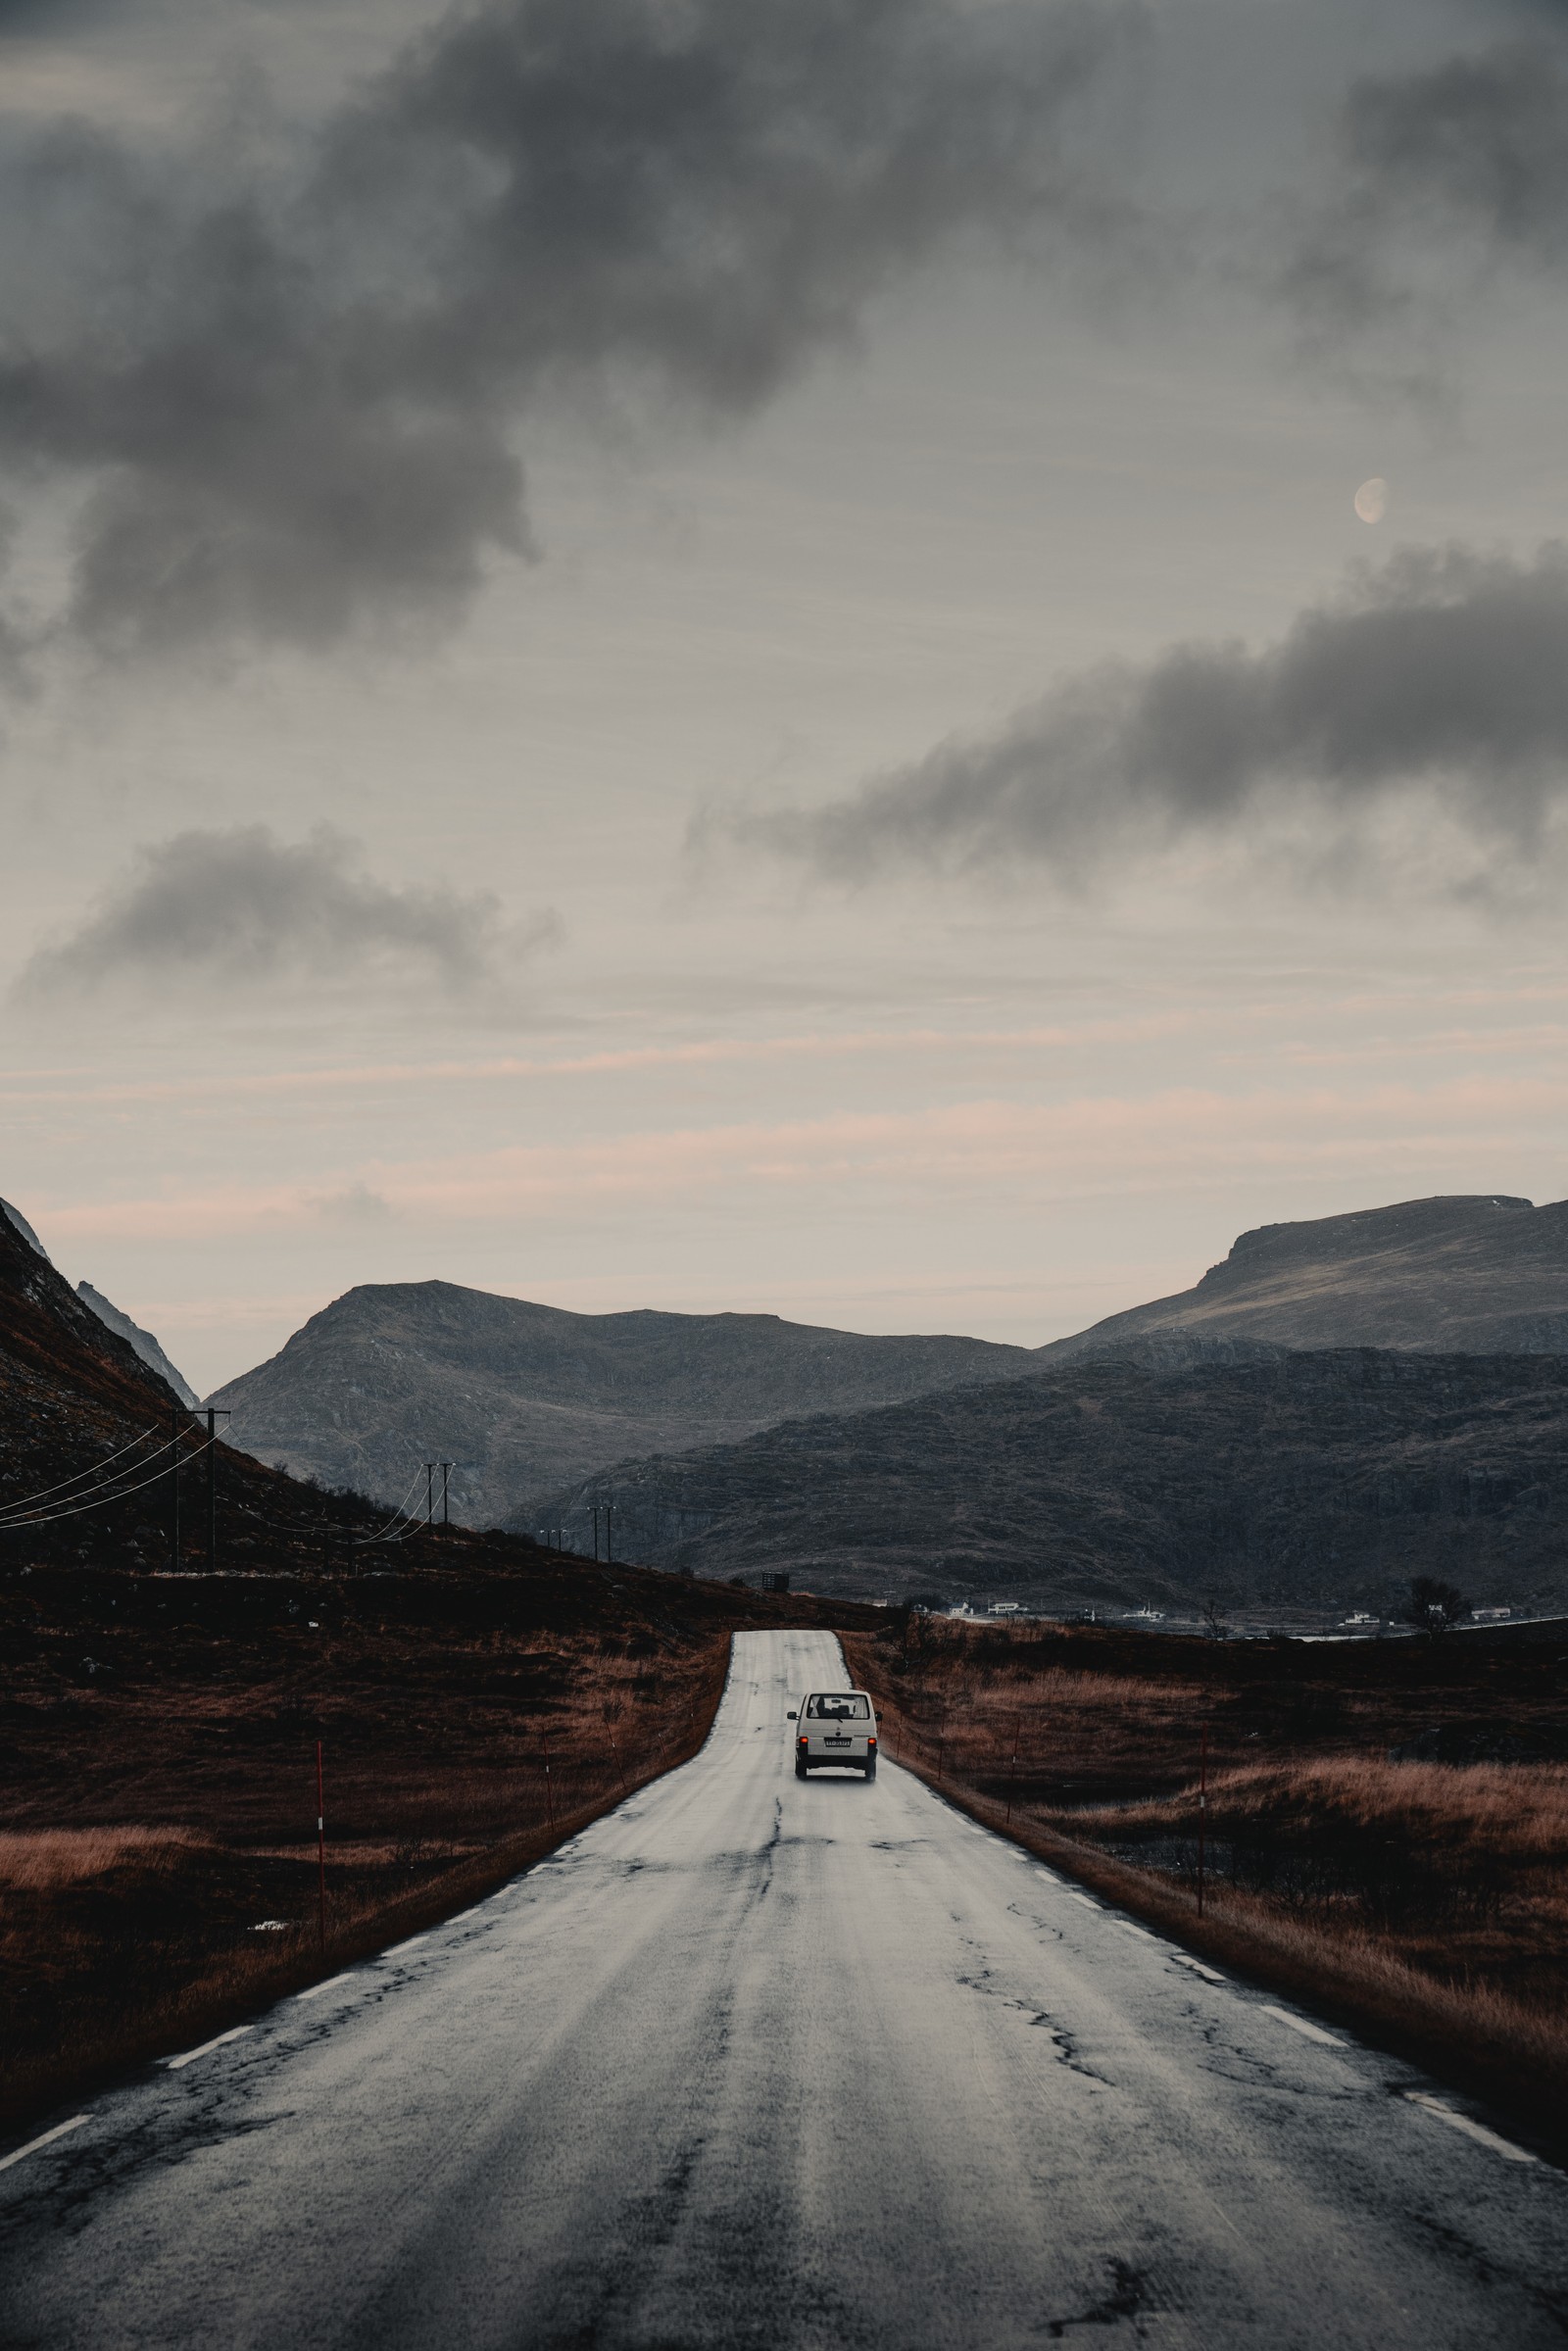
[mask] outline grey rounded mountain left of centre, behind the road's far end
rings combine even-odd
[[[212,1399],[235,1444],[397,1502],[449,1460],[451,1514],[531,1526],[541,1495],[628,1453],[797,1413],[1027,1373],[1027,1347],[863,1338],[776,1314],[569,1314],[451,1281],[367,1284]]]

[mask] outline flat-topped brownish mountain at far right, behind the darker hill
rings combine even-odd
[[[1568,1201],[1507,1194],[1260,1225],[1197,1288],[1112,1314],[1039,1361],[1126,1352],[1175,1366],[1241,1345],[1568,1354]]]

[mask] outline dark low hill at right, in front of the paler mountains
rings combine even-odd
[[[1568,1359],[1095,1357],[621,1462],[607,1491],[625,1556],[858,1599],[1331,1610],[1432,1573],[1568,1603]],[[574,1542],[592,1495],[550,1507]]]

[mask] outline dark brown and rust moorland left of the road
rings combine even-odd
[[[451,1549],[0,1578],[0,2123],[477,1900],[701,1747],[736,1627],[813,1620],[517,1538]]]

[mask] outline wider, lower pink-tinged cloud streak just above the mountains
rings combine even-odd
[[[1009,1194],[1048,1204],[1100,1192],[1135,1197],[1187,1185],[1229,1185],[1237,1173],[1340,1173],[1371,1199],[1505,1185],[1514,1159],[1568,1136],[1568,1079],[1469,1077],[1448,1086],[1218,1093],[1171,1089],[1145,1098],[1070,1103],[959,1103],[893,1114],[844,1112],[783,1124],[639,1131],[583,1143],[381,1161],[346,1171],[395,1218],[442,1223],[602,1218],[614,1208],[701,1197],[849,1194],[877,1204],[945,1192],[983,1204]],[[317,1187],[219,1187],[162,1199],[38,1204],[49,1237],[214,1239],[315,1230]]]

